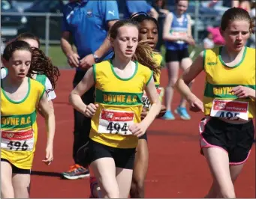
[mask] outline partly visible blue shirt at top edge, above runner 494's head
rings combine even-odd
[[[124,18],[130,18],[132,13],[144,12],[149,13],[152,6],[148,4],[145,0],[126,0],[126,9],[124,13]]]

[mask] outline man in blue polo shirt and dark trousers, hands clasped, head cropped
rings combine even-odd
[[[71,0],[63,9],[63,25],[61,46],[68,58],[68,64],[76,68],[73,86],[83,79],[86,70],[96,62],[112,56],[107,31],[119,19],[116,1],[109,0]],[[74,42],[74,51],[70,39]],[[95,102],[95,88],[90,89],[82,99],[87,105]],[[74,145],[73,159],[75,165],[63,173],[63,177],[71,180],[89,176],[89,170],[79,165],[77,152],[89,141],[91,119],[74,110]]]

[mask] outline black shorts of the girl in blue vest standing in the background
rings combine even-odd
[[[165,62],[170,61],[182,61],[184,58],[189,58],[188,48],[182,50],[170,50],[167,49],[165,53]]]

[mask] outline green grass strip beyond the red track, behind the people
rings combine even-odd
[[[197,57],[197,55],[203,50],[202,46],[195,46],[195,47],[189,47],[189,53],[191,53],[191,51],[193,50],[193,48],[195,48],[195,54],[193,56],[193,61],[194,58]],[[45,51],[45,46],[41,46],[41,49]],[[165,48],[164,46],[161,46],[161,54],[165,55]],[[64,55],[64,53],[62,52],[61,46],[59,45],[50,45],[49,46],[49,57],[52,59],[53,64],[57,67],[59,67],[60,69],[64,69],[64,68],[70,68],[68,65],[68,61],[66,56]],[[165,63],[164,63],[165,65]]]

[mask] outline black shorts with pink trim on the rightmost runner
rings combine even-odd
[[[240,165],[248,159],[254,142],[254,124],[226,123],[216,117],[200,121],[200,147],[220,147],[229,156],[230,165]],[[201,153],[203,154],[202,150]]]

